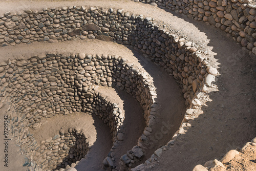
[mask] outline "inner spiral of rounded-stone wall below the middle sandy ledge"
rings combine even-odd
[[[117,87],[134,96],[141,103],[148,127],[153,124],[150,116],[155,115],[151,110],[156,92],[152,78],[119,56],[48,53],[28,60],[3,61],[0,78],[1,103],[8,97],[16,113],[10,121],[12,133],[28,158],[37,161],[38,169],[62,167],[61,162],[70,149],[62,146],[65,135],[37,144],[28,128],[37,129],[41,118],[75,111],[95,114],[111,127],[114,143],[118,140],[124,115],[117,104],[92,90],[95,84]],[[73,152],[81,154],[75,160],[85,154]],[[72,160],[65,162],[68,161]]]

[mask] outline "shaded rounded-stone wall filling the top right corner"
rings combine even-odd
[[[256,6],[251,4],[252,0],[143,0],[141,2],[184,13],[195,20],[203,20],[225,30],[235,41],[250,50],[250,53],[256,54]]]

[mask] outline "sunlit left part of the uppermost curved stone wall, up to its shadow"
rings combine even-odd
[[[102,39],[117,42],[127,41],[133,31],[135,15],[122,10],[101,10],[91,7],[45,8],[39,11],[0,16],[0,44],[15,45],[33,41],[66,41],[81,39]]]

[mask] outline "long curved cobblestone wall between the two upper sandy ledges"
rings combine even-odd
[[[61,34],[58,39],[61,39],[64,35],[74,38],[76,36],[83,36],[86,33],[88,38],[100,36],[106,39],[113,39],[120,44],[129,44],[139,49],[144,55],[147,55],[156,63],[159,63],[167,72],[179,79],[180,83],[185,84],[183,93],[187,93],[186,98],[190,95],[190,101],[194,95],[191,88],[192,82],[198,78],[197,82],[194,82],[194,87],[197,87],[197,84],[202,82],[205,72],[200,73],[201,68],[204,68],[204,66],[198,61],[200,55],[195,54],[197,51],[196,45],[184,38],[179,38],[159,29],[160,26],[158,27],[150,17],[144,18],[142,15],[135,16],[130,13],[124,13],[122,10],[114,11],[113,9],[109,9],[108,11],[104,11],[93,7],[90,9],[84,9],[83,7],[63,7],[26,12],[22,16],[26,16],[25,18],[27,20],[24,18],[18,20],[15,26],[13,25],[15,28],[10,29],[20,30],[19,26],[23,23],[29,27],[33,26],[32,30],[40,30],[39,32],[44,33],[44,35]],[[28,12],[31,14],[28,14]],[[10,22],[12,22],[10,18],[16,15],[7,14]],[[61,19],[62,17],[64,18]],[[2,27],[4,30],[8,30],[7,23],[9,20],[7,18],[4,20],[6,21],[3,22]],[[40,22],[42,23],[41,25]],[[44,27],[39,28],[43,25]],[[27,29],[31,28],[26,28],[25,30]],[[58,29],[57,33],[55,33],[56,29]],[[9,36],[7,32],[1,33],[1,35],[5,37]],[[33,35],[30,31],[28,35],[31,37],[31,41],[33,39],[32,37],[36,34]],[[41,39],[37,40],[42,41]],[[64,38],[64,40],[66,39]],[[190,57],[192,53],[194,53],[194,56]],[[189,61],[191,62],[188,63]],[[73,78],[72,75],[71,78]],[[92,79],[92,82],[96,82],[96,80]],[[73,109],[76,110],[75,108]]]

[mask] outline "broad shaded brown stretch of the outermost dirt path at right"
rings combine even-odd
[[[208,46],[214,47],[210,54],[220,63],[221,75],[216,82],[219,91],[209,94],[212,101],[203,106],[203,114],[190,122],[192,127],[186,134],[148,170],[191,170],[208,160],[220,160],[230,149],[255,137],[255,58],[223,31],[186,17],[185,20],[205,33],[210,40]]]

